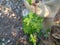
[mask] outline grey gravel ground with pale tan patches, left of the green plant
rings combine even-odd
[[[22,0],[0,0],[0,45],[16,45],[19,38],[24,37],[22,31],[24,8]]]

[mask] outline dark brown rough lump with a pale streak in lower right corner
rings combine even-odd
[[[52,43],[60,45],[60,26],[52,26],[50,37]]]

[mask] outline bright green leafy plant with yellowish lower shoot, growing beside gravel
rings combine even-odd
[[[44,18],[37,16],[35,13],[30,12],[27,16],[23,17],[23,31],[25,34],[30,35],[31,42],[36,45],[36,36],[35,33],[39,33],[39,31],[43,28]]]

